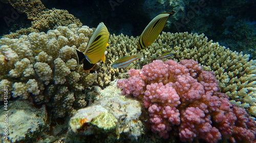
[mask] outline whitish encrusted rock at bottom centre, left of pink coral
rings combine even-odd
[[[119,94],[104,96],[70,119],[66,142],[136,141],[143,134],[140,115],[140,102]]]

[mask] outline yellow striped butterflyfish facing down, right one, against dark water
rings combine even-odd
[[[163,12],[151,20],[140,35],[137,49],[141,50],[142,48],[150,46],[163,31],[168,17],[174,15],[175,12],[176,11]]]

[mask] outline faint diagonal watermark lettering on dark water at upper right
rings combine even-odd
[[[206,6],[206,3],[204,0],[199,0],[198,1],[198,5],[195,5],[195,6],[189,6],[190,7],[190,11],[188,11],[186,13],[186,15],[184,15],[182,18],[181,18],[181,22],[177,22],[175,21],[174,22],[174,25],[177,29],[178,32],[180,32],[180,27],[185,27],[185,25],[187,24],[187,22],[190,20],[190,19],[193,19],[196,14],[198,14],[202,8],[204,8]]]

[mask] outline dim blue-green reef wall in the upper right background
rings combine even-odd
[[[146,1],[143,10],[150,18],[176,10],[167,21],[166,31],[204,33],[231,50],[243,51],[256,59],[255,4],[246,1]],[[172,24],[171,24],[172,23]]]

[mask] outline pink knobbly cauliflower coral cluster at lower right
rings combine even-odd
[[[156,60],[128,73],[117,87],[143,101],[151,130],[161,137],[178,132],[181,141],[256,142],[255,122],[219,92],[214,73],[203,71],[196,61]]]

